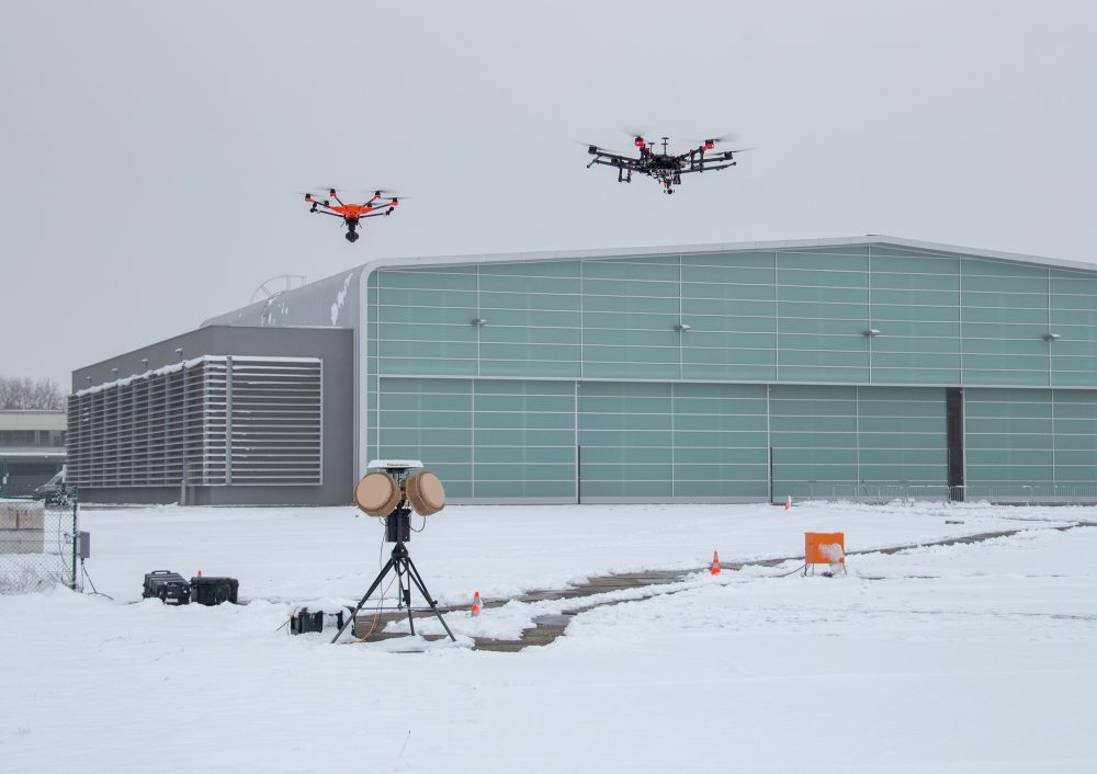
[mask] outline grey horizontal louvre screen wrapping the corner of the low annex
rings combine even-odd
[[[210,355],[69,397],[82,488],[318,485],[321,363]]]

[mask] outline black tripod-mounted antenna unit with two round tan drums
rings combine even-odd
[[[411,511],[420,516],[429,516],[445,506],[445,490],[442,482],[434,474],[423,470],[422,463],[417,459],[374,459],[367,469],[370,473],[354,488],[354,502],[366,515],[385,520],[385,542],[396,545],[393,547],[392,557],[381,568],[370,590],[365,592],[347,622],[339,627],[331,641],[338,641],[343,630],[351,625],[365,605],[366,600],[381,587],[385,576],[395,571],[396,583],[399,587],[398,604],[407,607],[411,634],[415,635],[415,621],[411,617],[411,587],[415,585],[438,616],[445,634],[456,642],[441,611],[438,610],[438,600],[427,591],[427,584],[423,583],[422,576],[408,556],[407,546],[404,545],[411,539]]]

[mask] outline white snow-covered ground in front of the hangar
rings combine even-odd
[[[114,600],[0,597],[0,771],[1097,771],[1097,528],[1053,528],[1097,522],[1097,509],[451,506],[429,517],[409,548],[446,604],[700,568],[714,549],[727,564],[802,556],[805,531],[845,532],[848,551],[1024,531],[851,556],[834,579],[780,577],[794,561],[698,572],[518,653],[473,651],[471,638],[517,636],[569,605],[451,614],[459,642],[417,653],[391,652],[407,640],[331,646],[279,630],[299,604],[357,601],[387,559],[380,521],[355,513],[86,510],[87,568]],[[139,601],[157,569],[238,578],[248,604]]]

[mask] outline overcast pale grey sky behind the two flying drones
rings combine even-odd
[[[1097,3],[8,2],[7,375],[373,257],[863,234],[1097,262]],[[622,129],[757,146],[674,196]],[[348,243],[298,191],[410,198]]]

